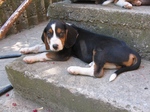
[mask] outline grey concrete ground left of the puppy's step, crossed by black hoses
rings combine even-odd
[[[9,35],[0,41],[0,56],[5,54],[19,53],[22,47],[33,46],[41,43],[40,36],[47,22],[43,22],[30,30],[24,30],[15,35]],[[10,84],[5,66],[11,63],[15,58],[0,59],[0,90]],[[13,106],[13,103],[16,106]],[[43,109],[40,109],[43,107]],[[44,107],[42,104],[25,99],[18,94],[15,89],[0,96],[0,112],[32,112],[38,109],[38,112],[53,112],[50,107]],[[40,109],[40,110],[39,110]]]

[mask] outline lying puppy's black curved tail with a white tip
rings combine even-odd
[[[109,81],[110,81],[110,82],[113,81],[113,80],[115,80],[116,77],[117,77],[119,74],[123,73],[123,72],[131,71],[131,70],[136,70],[136,69],[139,68],[139,66],[140,66],[140,64],[141,64],[141,57],[140,57],[140,55],[139,55],[138,53],[134,53],[132,56],[133,56],[133,57],[132,57],[132,60],[133,60],[132,65],[131,65],[131,66],[124,66],[124,67],[118,69],[115,73],[113,73],[113,74],[110,76],[110,78],[109,78]]]

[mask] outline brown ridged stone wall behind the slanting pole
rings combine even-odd
[[[20,6],[24,0],[5,0],[0,5],[0,27],[7,21],[11,14]],[[52,0],[58,2],[60,0]],[[46,13],[50,0],[32,0],[31,4],[21,14],[17,21],[13,24],[8,34],[13,34],[22,31],[23,29],[31,28],[40,22],[48,20]]]

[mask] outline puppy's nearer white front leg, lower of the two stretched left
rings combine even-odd
[[[51,60],[51,58],[47,57],[47,53],[41,53],[34,56],[26,56],[23,58],[23,61],[29,64],[46,60]]]

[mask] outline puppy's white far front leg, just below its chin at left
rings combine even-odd
[[[20,50],[21,53],[23,54],[28,54],[28,53],[38,53],[38,52],[42,52],[46,50],[45,49],[45,45],[35,45],[33,47],[29,47],[29,48],[22,48]]]

